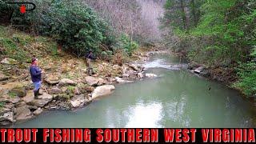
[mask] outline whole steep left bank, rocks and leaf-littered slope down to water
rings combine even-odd
[[[73,110],[94,98],[110,94],[114,83],[144,78],[143,68],[128,62],[122,66],[97,60],[96,74],[86,74],[86,63],[59,49],[50,38],[34,37],[6,27],[1,28],[0,125],[25,121],[44,110]],[[35,55],[43,74],[42,96],[34,99],[28,67]],[[144,59],[146,54],[133,54]]]

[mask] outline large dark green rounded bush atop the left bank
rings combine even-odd
[[[106,23],[82,2],[54,1],[46,13],[48,32],[66,50],[78,56],[92,49],[99,52],[99,44],[106,39]]]

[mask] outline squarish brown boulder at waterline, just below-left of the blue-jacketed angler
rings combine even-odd
[[[16,114],[15,114],[15,118],[18,120],[18,121],[21,121],[21,120],[27,120],[27,119],[30,119],[32,118],[32,113],[29,109],[29,106],[20,106],[17,108],[16,110]]]

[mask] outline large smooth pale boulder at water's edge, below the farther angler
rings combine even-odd
[[[92,94],[92,98],[98,98],[112,93],[115,87],[113,85],[98,86]]]

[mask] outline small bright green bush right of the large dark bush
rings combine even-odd
[[[124,50],[126,54],[131,56],[134,50],[138,49],[138,44],[132,41],[127,34],[122,34],[118,39],[117,48],[118,50]]]

